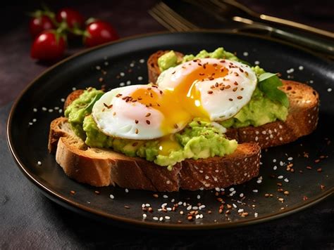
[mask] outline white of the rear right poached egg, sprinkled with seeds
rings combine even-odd
[[[179,84],[183,84],[188,74],[192,74],[198,67],[202,67],[199,62],[201,65],[216,64],[228,69],[228,74],[225,77],[205,79],[195,83],[195,87],[201,93],[202,107],[209,114],[211,121],[223,121],[233,117],[252,98],[257,84],[256,74],[248,65],[241,62],[215,58],[184,62],[161,73],[157,80],[159,88],[173,90]],[[220,88],[212,88],[217,82],[225,85],[223,91]],[[226,86],[230,87],[226,88]]]

